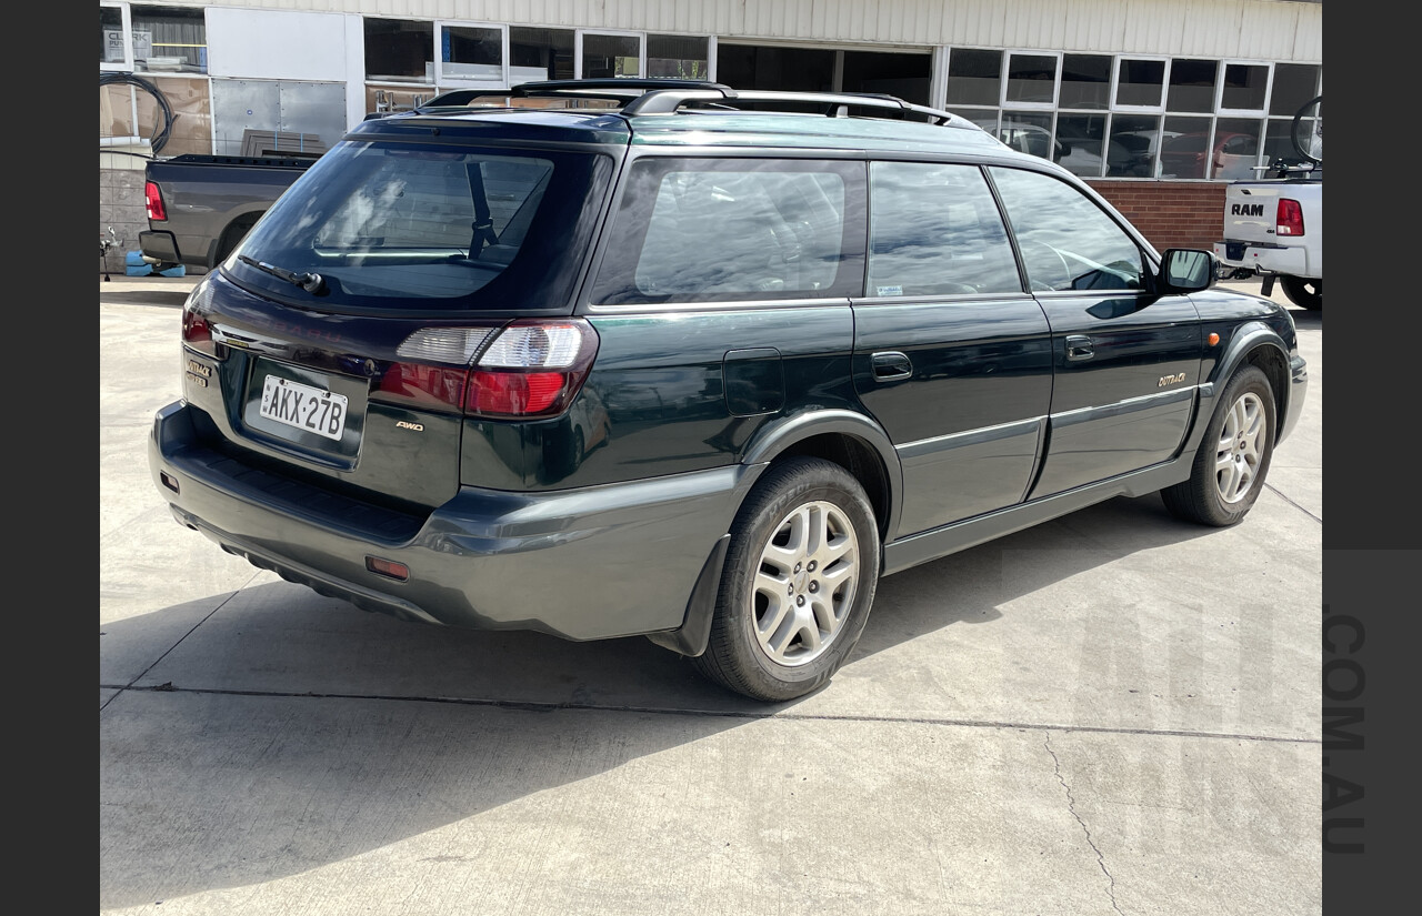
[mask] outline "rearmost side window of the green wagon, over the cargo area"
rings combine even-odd
[[[641,159],[593,301],[859,295],[863,169],[809,159]]]

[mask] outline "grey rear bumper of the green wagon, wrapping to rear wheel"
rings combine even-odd
[[[402,619],[604,639],[683,625],[698,574],[759,466],[559,490],[461,487],[417,517],[279,479],[154,418],[148,459],[175,518],[320,594]],[[173,489],[176,486],[176,490]],[[404,564],[408,581],[365,568]]]

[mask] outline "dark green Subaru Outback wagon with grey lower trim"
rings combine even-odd
[[[1119,494],[1240,521],[1288,312],[882,95],[456,91],[370,118],[193,290],[178,521],[323,595],[825,685],[882,575]]]

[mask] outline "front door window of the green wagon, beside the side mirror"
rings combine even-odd
[[[1140,247],[1086,195],[1039,172],[988,170],[1034,291],[1142,288]]]

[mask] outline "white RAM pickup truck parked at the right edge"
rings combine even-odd
[[[1284,295],[1310,310],[1324,307],[1322,178],[1233,182],[1224,192],[1224,239],[1214,257],[1226,270],[1264,277],[1264,295],[1277,278]]]

